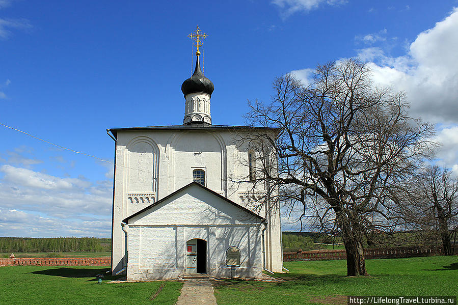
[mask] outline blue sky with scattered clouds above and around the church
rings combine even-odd
[[[0,123],[113,160],[106,128],[181,124],[196,24],[214,124],[272,81],[359,56],[437,124],[458,173],[458,2],[0,0]],[[110,237],[112,165],[0,126],[0,236]],[[285,228],[291,228],[286,224]]]

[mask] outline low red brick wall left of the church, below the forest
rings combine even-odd
[[[110,257],[69,257],[69,258],[4,258],[0,266],[107,266],[111,265]]]

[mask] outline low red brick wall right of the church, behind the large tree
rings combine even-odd
[[[378,258],[405,258],[415,256],[441,255],[442,249],[427,247],[397,247],[397,248],[375,248],[365,249],[366,259]],[[322,261],[322,260],[344,260],[345,250],[312,250],[302,252],[283,252],[283,261]]]

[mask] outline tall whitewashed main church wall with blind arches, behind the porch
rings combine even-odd
[[[241,197],[251,182],[231,180],[248,177],[248,146],[238,145],[234,130],[126,130],[118,131],[113,213],[113,270],[122,269],[124,232],[121,221],[193,181],[192,171],[202,168],[206,186],[228,199],[249,207]],[[143,157],[144,156],[144,157]],[[144,175],[148,177],[142,178]],[[259,189],[262,191],[262,189]],[[137,198],[137,199],[136,199]],[[282,271],[281,226],[278,212],[267,218],[266,267]]]

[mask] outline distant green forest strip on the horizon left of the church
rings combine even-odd
[[[111,252],[111,238],[95,237],[0,237],[0,253]]]

